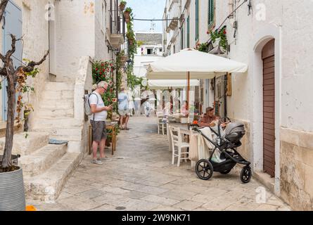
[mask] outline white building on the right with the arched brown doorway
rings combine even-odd
[[[184,16],[171,12],[175,7]],[[228,79],[232,90],[220,94],[226,99],[222,114],[245,123],[241,152],[251,160],[255,177],[295,210],[313,210],[312,11],[312,1],[300,0],[168,0],[164,16],[184,18],[165,25],[167,54],[207,42],[207,31],[226,25],[225,57],[249,69]],[[205,107],[219,96],[211,89],[226,84],[215,82],[203,82]]]

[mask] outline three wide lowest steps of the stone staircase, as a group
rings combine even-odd
[[[53,203],[70,174],[82,160],[82,153],[68,153],[67,145],[49,144],[49,134],[27,132],[15,134],[13,154],[21,155],[25,195],[27,199]],[[0,139],[0,153],[5,138]]]

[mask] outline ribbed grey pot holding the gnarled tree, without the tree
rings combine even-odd
[[[23,169],[0,173],[0,211],[25,211]]]

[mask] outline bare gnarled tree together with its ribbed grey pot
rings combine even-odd
[[[4,12],[8,0],[1,0],[0,3],[0,23],[4,18]],[[11,35],[11,49],[4,55],[0,53],[0,59],[3,62],[2,68],[0,68],[0,76],[6,78],[8,81],[7,93],[8,93],[8,119],[6,123],[6,142],[4,146],[4,155],[0,160],[0,211],[6,210],[25,210],[25,192],[23,182],[23,170],[18,167],[15,157],[12,155],[13,148],[13,134],[14,134],[14,122],[15,122],[15,94],[18,87],[23,86],[26,83],[27,74],[33,72],[35,67],[44,63],[46,57],[49,55],[49,51],[44,57],[35,62],[30,60],[25,65],[20,65],[15,68],[13,65],[13,53],[15,53],[15,44],[17,39],[13,34]],[[21,97],[18,98],[20,100]],[[14,160],[13,160],[14,159]]]

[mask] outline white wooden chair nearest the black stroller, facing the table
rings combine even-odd
[[[180,166],[181,160],[189,160],[189,143],[183,142],[181,131],[179,127],[169,126],[170,136],[172,141],[172,165],[174,165],[175,158],[177,158],[177,167]],[[176,147],[176,148],[175,148]],[[182,150],[185,150],[184,152]]]

